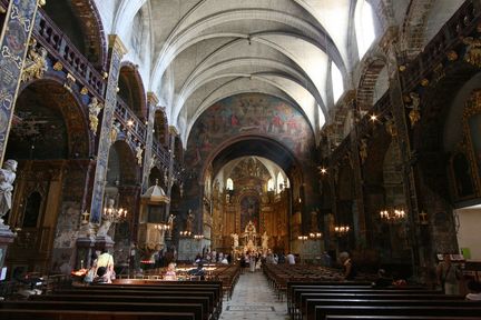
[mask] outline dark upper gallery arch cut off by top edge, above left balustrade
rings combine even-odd
[[[107,42],[95,1],[47,1],[43,10],[96,68],[106,69]]]

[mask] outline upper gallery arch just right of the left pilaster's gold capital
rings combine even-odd
[[[120,90],[117,94],[143,120],[147,119],[147,102],[144,82],[137,68],[138,66],[131,62],[122,62],[118,81]]]

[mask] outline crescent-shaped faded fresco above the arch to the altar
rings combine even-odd
[[[243,93],[208,108],[194,124],[188,140],[188,163],[194,166],[227,139],[242,134],[271,137],[300,159],[307,158],[313,131],[296,108],[276,97]]]

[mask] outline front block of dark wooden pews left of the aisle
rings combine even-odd
[[[222,281],[137,281],[72,287],[27,301],[2,301],[0,319],[216,320],[220,316]]]

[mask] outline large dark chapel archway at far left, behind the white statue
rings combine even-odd
[[[18,231],[10,267],[58,271],[73,261],[92,146],[80,101],[56,80],[21,88],[6,151],[6,159],[19,162],[8,217]]]

